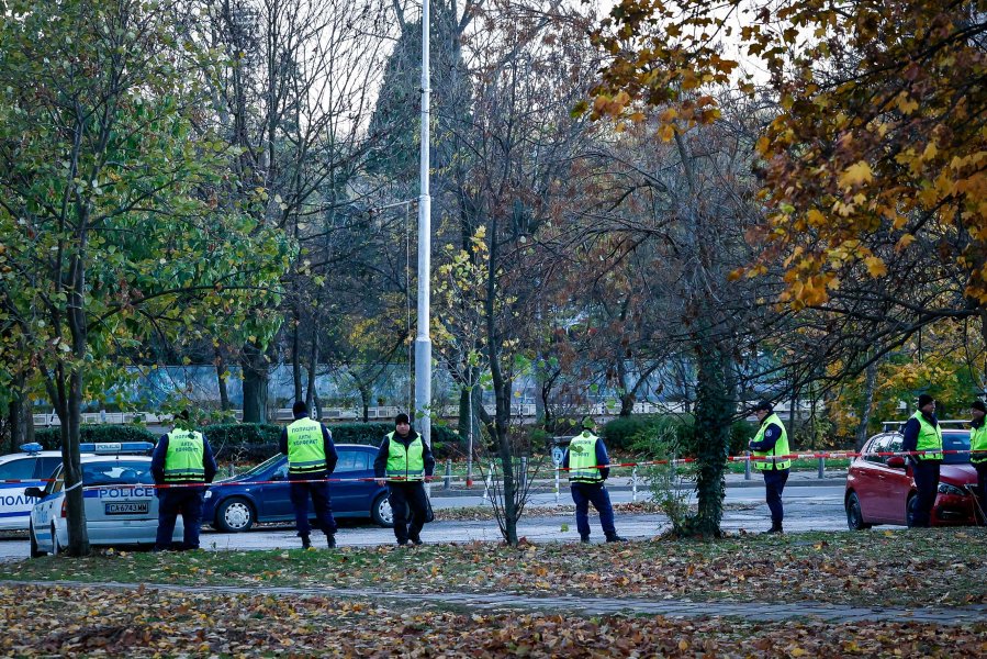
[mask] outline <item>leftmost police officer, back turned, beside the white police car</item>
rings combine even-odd
[[[202,433],[191,429],[189,411],[175,416],[175,428],[158,439],[150,458],[150,473],[159,487],[158,534],[155,551],[171,549],[175,523],[181,515],[184,525],[182,549],[199,548],[202,526],[202,495],[205,484],[216,476],[213,449]]]

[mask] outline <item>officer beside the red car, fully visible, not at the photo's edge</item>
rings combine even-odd
[[[908,456],[918,490],[911,526],[924,528],[931,524],[942,465],[942,428],[935,418],[935,399],[928,393],[919,396],[919,410],[905,424],[901,434],[901,450],[926,451]]]

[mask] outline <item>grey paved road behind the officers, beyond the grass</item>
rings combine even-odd
[[[646,496],[640,493],[639,496]],[[631,500],[629,491],[612,492],[614,502]],[[726,530],[745,529],[760,532],[770,524],[767,505],[764,504],[762,488],[728,488],[728,506],[722,527]],[[556,502],[554,494],[536,494],[530,505],[545,506]],[[571,503],[568,492],[561,496],[562,503]],[[844,530],[846,521],[843,513],[843,485],[823,484],[819,487],[799,487],[785,490],[785,529],[789,533],[800,530]],[[450,507],[489,505],[481,496],[439,496],[435,493],[433,507],[437,510]],[[592,513],[592,510],[591,510]],[[597,520],[591,517],[593,538],[603,537]],[[617,530],[627,538],[649,538],[668,527],[668,518],[657,514],[618,514]],[[379,528],[367,524],[355,524],[340,521],[341,528],[336,536],[339,545],[381,545],[394,541],[389,528]],[[564,525],[564,526],[563,526]],[[568,527],[568,528],[567,528]],[[567,528],[563,530],[563,528]],[[575,521],[571,515],[523,517],[518,533],[536,543],[576,541]],[[501,539],[496,523],[490,520],[472,522],[436,522],[425,527],[423,539],[428,541],[468,543],[471,540],[496,541]],[[318,546],[322,541],[316,532],[313,540]],[[224,534],[212,530],[202,534],[202,547],[206,549],[272,549],[295,547],[299,544],[291,526],[266,526],[244,534]],[[20,537],[0,539],[0,560],[12,560],[27,556],[26,534]]]

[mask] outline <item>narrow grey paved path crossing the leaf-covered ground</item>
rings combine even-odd
[[[575,613],[581,615],[660,615],[665,617],[743,617],[763,622],[816,618],[826,623],[855,623],[863,621],[926,623],[935,625],[971,625],[979,623],[987,614],[987,605],[957,607],[899,608],[883,606],[851,606],[822,602],[767,603],[767,602],[692,602],[688,600],[647,600],[638,597],[584,597],[562,595],[537,597],[502,593],[407,593],[379,590],[232,585],[176,585],[167,583],[88,583],[82,581],[4,581],[9,585],[35,588],[61,587],[71,589],[137,590],[155,589],[188,593],[221,593],[244,595],[318,596],[339,600],[373,600],[378,602],[404,602],[414,606],[423,602],[433,604],[495,611],[503,608],[543,611],[549,613]]]

